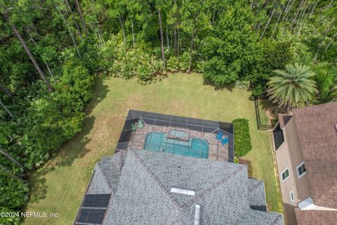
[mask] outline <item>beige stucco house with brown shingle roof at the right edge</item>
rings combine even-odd
[[[337,224],[337,103],[280,114],[272,132],[286,224]]]

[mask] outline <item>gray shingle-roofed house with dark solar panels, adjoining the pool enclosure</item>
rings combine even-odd
[[[74,224],[283,224],[246,165],[150,150],[97,163]]]

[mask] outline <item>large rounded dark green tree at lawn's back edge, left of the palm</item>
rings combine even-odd
[[[202,41],[206,79],[216,85],[233,84],[249,71],[259,54],[251,20],[249,8],[239,2],[220,13],[213,32]]]

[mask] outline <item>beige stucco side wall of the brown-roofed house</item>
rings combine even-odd
[[[302,152],[298,143],[296,124],[291,118],[283,130],[284,143],[276,150],[279,182],[284,203],[284,213],[288,225],[296,224],[294,207],[297,203],[311,196],[307,174],[298,179],[296,167],[303,162]],[[282,172],[289,168],[289,178],[282,181]],[[293,191],[294,201],[291,203],[290,192]]]

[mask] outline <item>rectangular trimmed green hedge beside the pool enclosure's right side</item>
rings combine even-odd
[[[242,157],[251,150],[251,134],[249,134],[249,121],[247,119],[233,120],[235,155]]]

